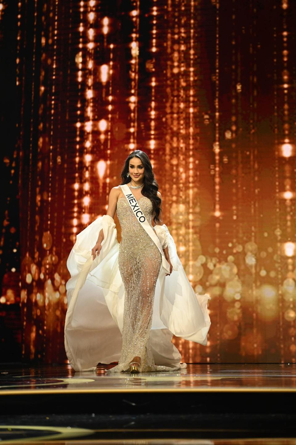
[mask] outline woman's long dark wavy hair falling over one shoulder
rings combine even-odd
[[[150,162],[150,159],[148,158],[147,154],[142,150],[134,150],[127,158],[126,162],[124,164],[124,167],[121,172],[121,178],[123,184],[128,184],[131,181],[130,176],[127,178],[127,173],[129,171],[130,166],[130,160],[132,158],[139,158],[142,162],[142,165],[144,166],[144,185],[142,187],[142,195],[146,196],[150,199],[153,206],[153,213],[154,213],[154,223],[157,223],[159,221],[159,213],[161,210],[160,204],[161,199],[159,198],[157,192],[158,192],[158,183],[155,180],[154,173],[152,170],[152,165]]]

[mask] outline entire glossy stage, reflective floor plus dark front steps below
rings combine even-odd
[[[0,365],[1,442],[296,445],[295,364],[105,368]]]

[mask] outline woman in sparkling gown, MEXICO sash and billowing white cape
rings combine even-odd
[[[131,153],[121,177],[121,186],[110,191],[106,215],[77,235],[69,255],[67,356],[76,370],[115,361],[117,327],[121,352],[109,372],[184,368],[172,334],[207,344],[209,296],[195,295],[184,273],[162,222],[162,197],[148,156],[141,150]],[[115,211],[122,227],[119,246]]]

